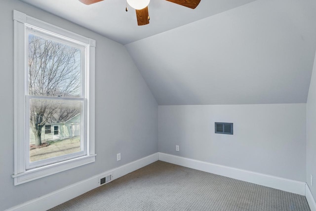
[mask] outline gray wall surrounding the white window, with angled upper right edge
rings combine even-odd
[[[13,185],[13,9],[96,40],[96,162]],[[158,107],[125,47],[18,0],[0,2],[0,210],[158,152]],[[121,153],[121,161],[116,154]]]

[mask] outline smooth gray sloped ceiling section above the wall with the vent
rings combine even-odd
[[[306,103],[316,0],[257,0],[126,44],[159,105]]]

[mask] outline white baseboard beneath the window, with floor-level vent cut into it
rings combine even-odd
[[[91,178],[69,185],[47,195],[41,196],[37,199],[15,206],[8,209],[7,211],[46,211],[81,194],[84,194],[94,188],[99,187],[98,178],[102,175],[106,175],[111,172],[113,173],[114,180],[134,170],[143,168],[151,163],[154,163],[155,161],[158,161],[158,157],[158,153],[152,154],[116,169],[108,170]]]

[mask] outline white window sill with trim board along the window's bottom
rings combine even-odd
[[[95,156],[96,154],[82,156],[79,158],[74,158],[71,160],[67,160],[67,161],[63,161],[63,162],[35,168],[35,169],[26,170],[23,173],[12,174],[12,177],[14,178],[14,185],[23,184],[25,182],[39,179],[44,176],[48,176],[48,175],[55,174],[61,171],[65,171],[68,169],[73,169],[79,166],[93,163],[95,162]]]

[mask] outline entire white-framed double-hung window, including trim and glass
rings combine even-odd
[[[13,20],[18,185],[95,161],[95,41],[16,10]]]

